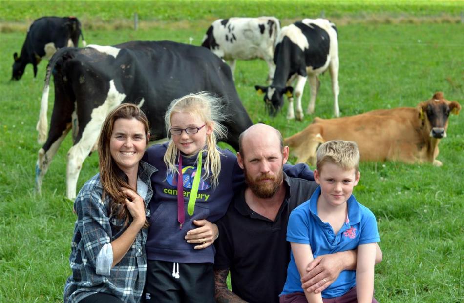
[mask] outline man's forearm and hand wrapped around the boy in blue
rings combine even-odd
[[[375,244],[375,263],[378,264],[382,261],[383,255],[379,245]],[[323,291],[338,278],[342,270],[356,270],[357,257],[356,249],[316,257],[306,268],[307,273],[301,277],[302,287],[308,292],[319,293]]]

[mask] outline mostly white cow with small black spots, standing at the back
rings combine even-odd
[[[219,19],[208,28],[201,46],[226,60],[232,75],[236,59],[264,59],[269,66],[268,81],[272,81],[274,44],[279,32],[280,21],[275,17]]]

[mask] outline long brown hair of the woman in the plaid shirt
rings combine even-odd
[[[102,199],[105,198],[105,195],[112,198],[109,215],[115,215],[118,219],[123,219],[124,226],[126,227],[132,216],[125,207],[124,201],[127,197],[121,192],[121,187],[130,188],[134,191],[136,189],[129,185],[127,175],[114,162],[113,157],[111,157],[111,134],[113,133],[114,123],[118,119],[136,119],[142,122],[145,128],[147,144],[150,127],[147,116],[145,116],[145,113],[140,108],[131,103],[124,103],[113,109],[106,117],[102,125],[102,131],[100,132],[100,139],[98,140],[100,181],[103,185]],[[145,220],[144,227],[148,227],[147,220]]]

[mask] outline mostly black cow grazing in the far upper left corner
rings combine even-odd
[[[42,17],[35,20],[27,30],[26,40],[22,45],[21,55],[13,54],[12,80],[20,80],[26,65],[34,67],[37,76],[37,65],[45,58],[50,60],[58,48],[78,45],[79,36],[85,46],[81,22],[76,17]]]

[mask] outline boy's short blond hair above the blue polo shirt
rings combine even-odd
[[[333,163],[344,170],[359,170],[359,149],[356,142],[332,140],[320,145],[317,149],[317,170],[325,163]]]

